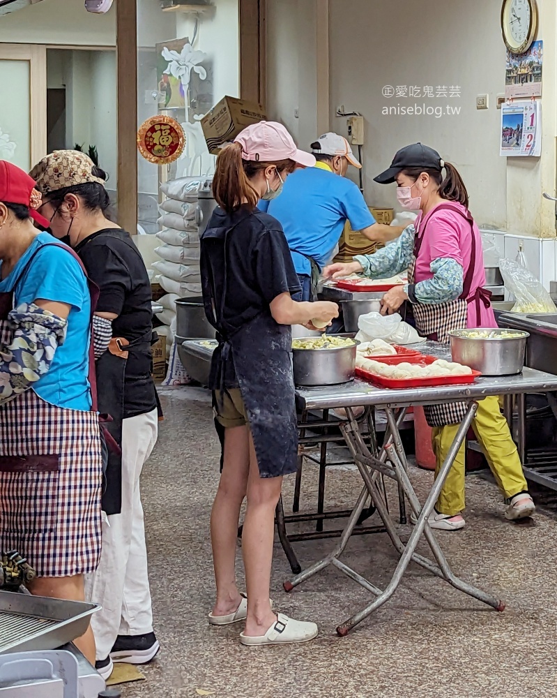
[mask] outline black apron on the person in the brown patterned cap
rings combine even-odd
[[[125,242],[139,255],[137,247],[129,239],[128,233],[118,228],[102,232],[98,237],[114,237]],[[86,246],[87,240],[84,241]],[[78,252],[79,254],[79,252]],[[119,450],[109,450],[105,473],[105,488],[102,493],[102,511],[107,515],[120,514],[122,510],[122,422],[125,403],[125,366],[129,352],[151,348],[153,331],[133,341],[123,337],[113,337],[109,348],[96,361],[98,410],[110,415],[106,429],[119,445]],[[155,391],[156,395],[156,391]],[[159,403],[158,403],[159,404]]]

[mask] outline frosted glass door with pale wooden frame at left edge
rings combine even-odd
[[[44,46],[0,44],[0,160],[29,172],[47,154]]]

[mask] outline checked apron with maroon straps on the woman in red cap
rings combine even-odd
[[[89,283],[89,290],[92,315],[98,288]],[[13,291],[0,293],[4,345],[13,341],[6,321],[12,309]],[[33,389],[0,406],[0,552],[19,551],[38,577],[93,572],[100,558],[102,456],[92,343],[89,381],[89,412],[51,405]]]

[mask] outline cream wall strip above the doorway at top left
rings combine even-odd
[[[44,0],[0,17],[0,43],[116,45],[116,10],[93,15],[82,0]]]

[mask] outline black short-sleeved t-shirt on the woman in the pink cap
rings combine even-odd
[[[224,236],[227,235],[226,292]],[[201,281],[211,287],[218,329],[232,334],[282,293],[300,290],[282,226],[273,216],[243,206],[232,214],[215,209],[201,235]],[[205,292],[205,291],[204,291]],[[224,369],[227,387],[236,385],[231,355]]]

